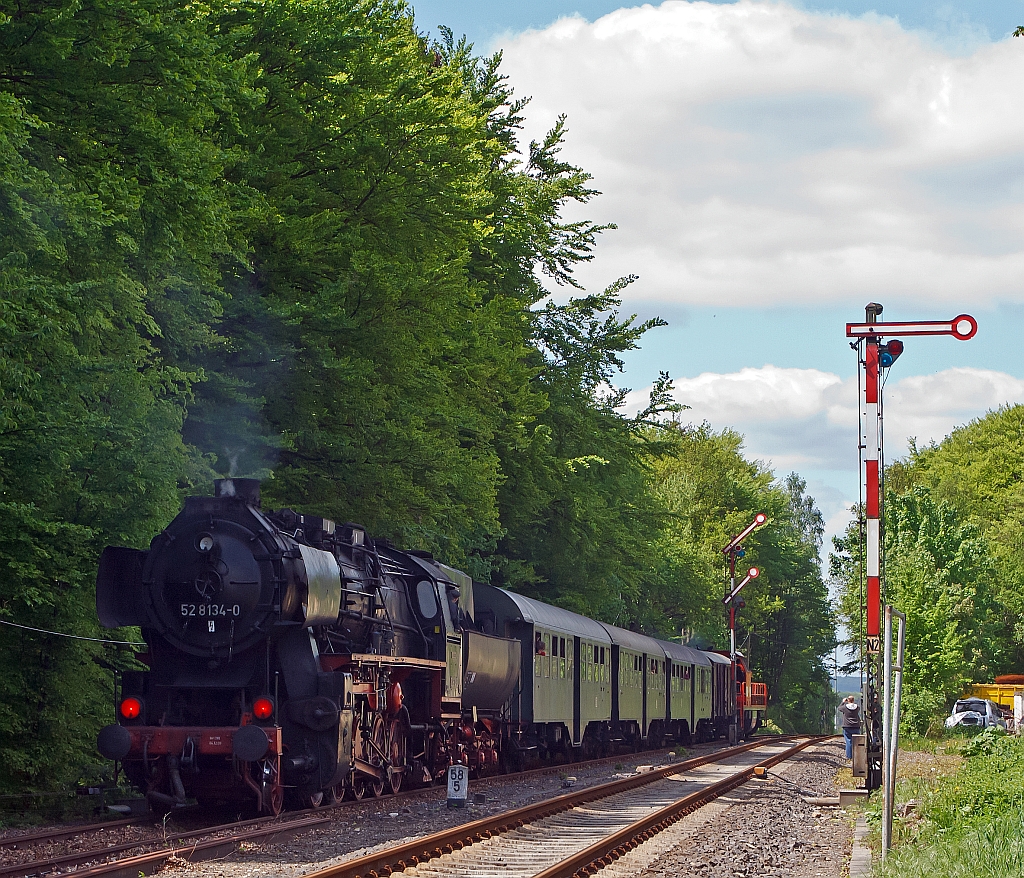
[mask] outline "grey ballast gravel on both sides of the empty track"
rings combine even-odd
[[[705,748],[700,748],[703,750]],[[637,764],[662,759],[624,759],[615,765],[580,768],[571,765],[575,787],[612,780]],[[835,797],[836,774],[846,764],[842,742],[805,750],[798,759],[772,769],[768,780],[751,781],[728,796],[706,805],[631,851],[603,878],[694,878],[712,876],[787,876],[841,878],[850,858],[852,819],[808,798]],[[499,813],[564,792],[558,775],[480,784],[482,803],[451,810],[443,791],[407,801],[400,808],[386,800],[361,803],[339,812],[325,830],[306,833],[281,845],[252,845],[222,862],[181,863],[203,878],[294,878],[317,869],[437,832],[460,823]],[[470,789],[472,798],[473,788]]]

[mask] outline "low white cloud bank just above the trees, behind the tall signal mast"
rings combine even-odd
[[[675,398],[690,406],[684,422],[709,421],[743,433],[752,457],[777,473],[791,469],[856,470],[857,380],[816,369],[741,369],[675,381]],[[650,388],[629,394],[639,411]],[[1024,380],[985,369],[947,369],[889,383],[885,401],[886,456],[941,442],[953,427],[1008,403],[1024,402]],[[838,502],[838,498],[837,502]]]

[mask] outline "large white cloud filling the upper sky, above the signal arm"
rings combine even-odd
[[[1024,46],[954,57],[890,18],[666,2],[505,46],[541,133],[618,223],[581,278],[771,305],[1024,300]]]

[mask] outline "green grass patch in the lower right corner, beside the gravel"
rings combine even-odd
[[[904,811],[906,803],[920,804]],[[881,800],[867,807],[881,826]],[[981,736],[901,753],[883,878],[1024,875],[1024,741]]]

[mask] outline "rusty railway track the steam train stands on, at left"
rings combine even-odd
[[[668,749],[662,749],[650,751],[644,755],[648,758],[658,757],[665,756],[668,752],[670,752]],[[481,778],[474,781],[474,787],[476,789],[480,789],[481,787],[486,788],[488,783],[507,781],[510,778],[525,780],[530,777],[552,775],[566,769],[579,770],[595,765],[611,764],[621,762],[624,758],[626,757],[623,755],[616,755],[590,759],[585,762],[554,763],[521,771],[514,776],[499,775]],[[89,839],[89,847],[57,855],[47,854],[23,863],[0,865],[0,878],[30,878],[30,876],[47,875],[55,872],[73,873],[75,876],[111,876],[123,874],[126,878],[138,878],[140,873],[151,874],[161,868],[167,861],[175,858],[200,861],[227,855],[246,842],[285,840],[296,833],[331,823],[337,817],[336,812],[346,807],[354,807],[376,801],[397,802],[419,796],[438,795],[442,793],[443,790],[436,786],[422,787],[392,793],[379,798],[365,799],[361,802],[345,801],[333,806],[290,811],[276,819],[257,818],[241,823],[205,826],[174,833],[162,831],[160,825],[155,824],[152,819],[127,818],[8,836],[7,838],[0,839],[0,849],[16,848],[24,850],[32,847],[46,849],[54,842],[67,841],[68,839],[77,837]],[[131,839],[100,845],[95,845],[95,842],[92,840],[92,837],[96,835],[129,826],[143,826],[152,828],[155,831],[148,838]],[[156,849],[146,850],[145,848]],[[131,851],[141,852],[130,856],[122,855]],[[114,862],[104,862],[110,861],[111,858],[119,859]]]

